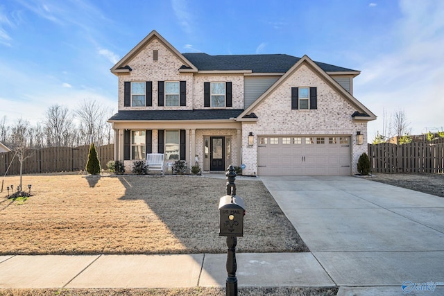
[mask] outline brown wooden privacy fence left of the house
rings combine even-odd
[[[102,168],[106,163],[114,159],[114,144],[96,147]],[[85,170],[88,159],[89,145],[73,147],[49,147],[28,150],[26,155],[31,155],[23,162],[23,173],[56,173],[63,171]],[[20,162],[15,156],[15,151],[0,153],[0,175],[5,175],[10,166],[8,175],[20,173]],[[12,160],[12,158],[14,158]],[[12,163],[11,163],[12,161]]]

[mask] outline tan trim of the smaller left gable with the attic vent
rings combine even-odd
[[[144,40],[139,42],[139,44],[137,44],[133,49],[131,49],[129,53],[127,53],[123,58],[121,58],[121,60],[119,60],[117,64],[114,64],[114,67],[111,68],[111,72],[114,74],[130,72],[131,68],[128,67],[128,62],[130,62],[130,60],[133,60],[133,58],[135,58],[135,56],[140,51],[142,51],[142,49],[144,49],[145,46],[149,44],[154,38],[157,38],[157,40],[159,40],[162,44],[164,44],[164,46],[166,46],[167,49],[169,49],[174,55],[176,55],[179,58],[179,60],[183,62],[184,65],[182,66],[182,69],[187,69],[187,71],[197,71],[197,68],[194,66],[194,64],[192,64],[189,60],[187,60],[187,58],[185,58],[185,56],[182,55],[182,53],[180,53],[177,49],[175,49],[174,46],[172,46],[167,40],[164,39],[164,37],[162,37],[159,33],[157,33],[157,31],[153,30],[151,31],[151,33],[146,35]]]

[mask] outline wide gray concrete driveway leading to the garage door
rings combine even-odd
[[[444,198],[357,177],[261,180],[338,295],[444,295]]]

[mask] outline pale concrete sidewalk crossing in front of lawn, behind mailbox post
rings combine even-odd
[[[0,288],[225,287],[226,254],[0,256]],[[311,253],[237,254],[242,286],[335,284]]]

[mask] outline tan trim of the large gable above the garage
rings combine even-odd
[[[330,77],[330,75],[328,75],[326,71],[321,69],[321,67],[318,66],[316,62],[311,60],[307,55],[304,55],[302,58],[300,58],[300,60],[298,60],[298,62],[296,62],[296,64],[293,65],[293,67],[291,67],[286,73],[284,73],[284,75],[281,78],[279,78],[269,89],[267,89],[266,92],[264,92],[264,94],[259,96],[259,98],[257,98],[257,100],[253,104],[251,104],[246,110],[244,110],[244,112],[239,114],[237,120],[245,121],[246,119],[248,119],[248,114],[253,112],[255,108],[260,103],[262,103],[262,101],[264,101],[265,98],[268,97],[269,94],[271,94],[275,89],[277,89],[282,84],[282,82],[287,80],[293,73],[295,73],[302,66],[302,64],[306,64],[307,67],[311,69],[311,71],[314,71],[314,73],[316,73],[319,77],[321,77],[331,87],[336,89],[336,91],[339,92],[348,101],[348,103],[350,103],[353,107],[355,107],[360,114],[368,114],[368,116],[359,116],[359,118],[355,117],[355,119],[362,119],[366,121],[371,121],[376,119],[375,114],[373,114],[370,110],[368,110],[366,106],[362,105],[361,102],[357,100],[357,98],[352,96],[352,94],[350,94],[343,87],[341,87],[341,85],[339,85],[338,82],[336,82],[332,77]]]

